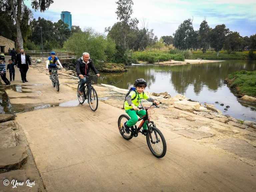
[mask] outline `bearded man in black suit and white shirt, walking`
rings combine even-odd
[[[17,54],[15,60],[15,66],[17,66],[20,70],[21,80],[23,83],[28,82],[26,76],[29,66],[31,66],[30,56],[25,55],[25,50],[22,48],[20,49],[20,53]]]

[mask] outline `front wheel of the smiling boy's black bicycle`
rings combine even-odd
[[[146,135],[148,148],[154,156],[157,158],[162,158],[166,153],[166,141],[164,135],[158,128],[151,128],[152,132],[148,131]]]

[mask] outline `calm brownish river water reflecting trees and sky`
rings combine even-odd
[[[228,60],[176,66],[133,64],[127,68],[128,71],[124,73],[101,73],[98,83],[116,82],[111,85],[129,89],[136,79],[143,78],[147,81],[146,90],[149,92],[167,91],[171,96],[182,94],[201,104],[214,104],[225,115],[256,122],[256,105],[238,102],[235,93],[224,84],[227,76],[235,71],[256,70],[255,60]],[[224,110],[226,106],[230,106],[227,111]]]

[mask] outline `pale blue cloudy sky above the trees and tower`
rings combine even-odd
[[[38,17],[57,22],[61,11],[69,11],[72,15],[72,25],[83,30],[91,27],[104,33],[105,27],[112,27],[118,22],[116,10],[117,0],[54,0],[45,12],[33,11]],[[31,0],[24,1],[30,6]],[[153,29],[158,38],[173,35],[179,25],[186,19],[193,19],[194,30],[198,30],[201,22],[206,19],[208,25],[225,24],[231,31],[237,31],[241,36],[256,34],[256,3],[255,0],[133,0],[132,18],[142,21],[148,29]]]

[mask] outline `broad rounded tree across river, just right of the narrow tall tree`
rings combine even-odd
[[[217,52],[217,57],[219,56],[220,50],[223,48],[226,35],[228,35],[229,29],[226,28],[225,24],[216,25],[214,29],[210,31],[210,44],[211,47]]]

